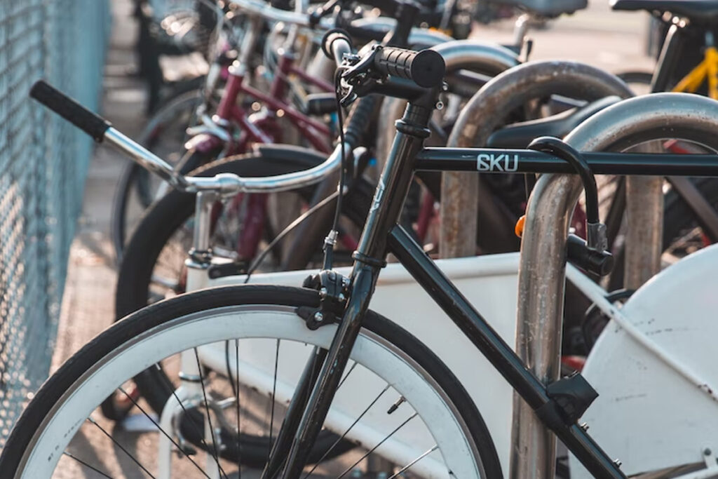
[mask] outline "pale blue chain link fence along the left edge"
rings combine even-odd
[[[27,94],[45,78],[96,111],[109,28],[107,0],[0,1],[0,448],[47,378],[92,152]]]

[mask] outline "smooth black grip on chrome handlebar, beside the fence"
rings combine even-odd
[[[30,88],[30,97],[39,101],[43,105],[50,108],[58,115],[70,121],[71,124],[85,131],[86,134],[92,136],[95,141],[102,141],[105,132],[110,126],[110,122],[101,116],[89,111],[80,103],[76,102],[65,93],[52,87],[45,80],[37,80],[32,88]]]

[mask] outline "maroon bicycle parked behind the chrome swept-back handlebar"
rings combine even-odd
[[[289,75],[299,75],[299,78],[309,85],[317,85],[322,90],[331,90],[331,85],[305,74],[304,70],[298,68],[295,65],[297,55],[292,48],[288,48],[281,52],[279,68],[269,85],[268,93],[251,87],[248,78],[253,68],[251,57],[259,45],[261,30],[266,21],[264,17],[251,16],[245,23],[246,33],[241,42],[242,54],[237,57],[236,51],[228,50],[216,55],[205,81],[204,91],[187,93],[172,101],[158,112],[146,129],[144,134],[146,141],[143,144],[164,157],[169,156],[170,153],[182,156],[182,159],[178,158],[175,161],[182,172],[190,172],[208,162],[208,159],[215,159],[220,152],[236,154],[246,151],[248,144],[272,143],[281,139],[280,122],[286,120],[281,120],[279,116],[286,116],[292,126],[306,134],[315,148],[320,151],[329,149],[326,137],[330,134],[330,129],[327,125],[304,115],[288,103],[289,93],[292,90]],[[235,43],[238,43],[238,40]],[[291,47],[291,43],[290,40],[290,44],[286,46]],[[213,106],[216,102],[215,92],[220,77],[225,76],[224,74],[227,77],[227,85],[219,99],[219,106],[215,109]],[[268,108],[263,112],[246,111],[245,104],[238,103],[240,98],[245,97],[261,101]],[[214,119],[210,115],[212,111],[217,113]],[[193,118],[196,121],[192,121]],[[182,131],[179,139],[165,145],[177,121],[180,122],[182,130],[190,126],[190,134]],[[192,142],[192,146],[187,147],[193,151],[192,154],[180,154],[188,141]],[[165,152],[158,147],[169,147],[170,151]],[[143,208],[149,206],[155,196],[162,195],[162,188],[159,191],[152,191],[154,189],[149,187],[148,182],[146,173],[135,164],[129,164],[121,176],[113,201],[112,214],[112,236],[118,262],[121,260],[127,236],[126,230],[129,226],[128,215],[131,215],[129,207],[132,191],[137,191],[140,206]]]

